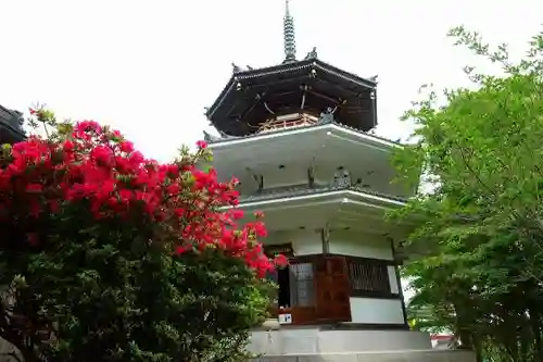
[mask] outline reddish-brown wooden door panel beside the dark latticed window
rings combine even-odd
[[[323,322],[350,322],[349,274],[344,257],[315,260],[315,314]]]

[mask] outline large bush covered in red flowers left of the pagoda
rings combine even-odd
[[[236,182],[195,166],[209,157],[200,142],[159,164],[94,122],[2,149],[0,336],[14,359],[247,359],[273,264],[263,224],[237,225]]]

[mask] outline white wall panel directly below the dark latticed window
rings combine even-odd
[[[400,299],[349,298],[351,322],[375,324],[403,324],[404,313]]]

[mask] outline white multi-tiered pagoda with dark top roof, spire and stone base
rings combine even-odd
[[[283,37],[280,64],[232,64],[206,109],[219,178],[240,180],[247,215],[264,212],[266,253],[289,258],[275,275],[274,319],[250,349],[262,361],[471,361],[409,330],[391,241],[409,225],[384,215],[415,190],[391,183],[403,146],[374,134],[377,77],[325,63],[315,48],[299,60],[288,0]]]

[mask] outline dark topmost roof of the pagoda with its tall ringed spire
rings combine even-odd
[[[334,122],[368,132],[377,125],[376,77],[362,78],[317,59],[314,48],[304,60],[295,59],[294,24],[283,18],[285,61],[263,68],[241,70],[232,76],[206,110],[219,133],[248,136],[265,122],[296,112],[332,113]]]

